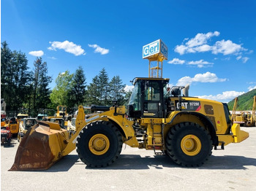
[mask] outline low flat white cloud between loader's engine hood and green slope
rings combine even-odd
[[[222,92],[222,94],[217,94],[217,95],[199,95],[197,97],[199,98],[204,98],[204,99],[211,99],[215,101],[230,101],[233,98],[238,97],[239,95],[244,94],[244,92],[236,92],[236,91],[225,91]]]

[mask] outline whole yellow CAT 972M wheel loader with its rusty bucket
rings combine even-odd
[[[116,104],[99,106],[104,112],[85,119],[79,106],[70,138],[58,124],[39,122],[23,137],[10,170],[47,169],[75,148],[86,165],[105,167],[116,161],[123,144],[167,155],[181,166],[200,166],[213,148],[224,149],[249,136],[239,124],[231,124],[227,104],[189,97],[184,87],[168,90],[168,82],[135,78],[127,112]]]

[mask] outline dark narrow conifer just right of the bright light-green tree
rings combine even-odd
[[[70,102],[79,106],[85,102],[86,98],[86,76],[81,66],[75,71],[74,77],[71,82]],[[70,103],[71,104],[71,103]]]

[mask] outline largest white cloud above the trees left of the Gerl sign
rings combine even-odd
[[[73,55],[86,55],[85,50],[81,48],[80,45],[74,44],[73,42],[64,41],[64,42],[49,42],[51,44],[50,47],[48,47],[48,50],[64,50],[65,52],[72,53]]]

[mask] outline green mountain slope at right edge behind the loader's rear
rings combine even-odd
[[[252,110],[252,104],[253,104],[253,96],[256,95],[256,89],[249,91],[247,93],[244,93],[243,95],[238,96],[238,103],[236,105],[236,111],[242,111],[242,110]],[[235,99],[228,102],[228,108],[230,110],[233,109]]]

